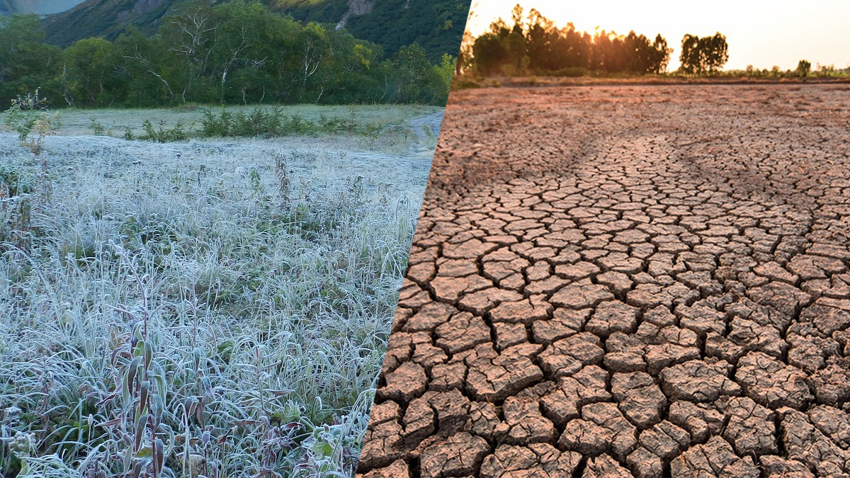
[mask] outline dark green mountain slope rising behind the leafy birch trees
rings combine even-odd
[[[15,0],[0,0],[3,5]],[[45,18],[48,43],[66,47],[87,37],[113,40],[129,25],[145,34],[156,32],[162,17],[189,0],[86,0]],[[227,0],[224,0],[227,1]],[[220,2],[218,2],[220,3]],[[278,14],[296,20],[344,26],[354,37],[369,40],[391,56],[419,43],[430,60],[457,55],[467,0],[262,0]]]

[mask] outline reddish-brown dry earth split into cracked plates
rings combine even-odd
[[[452,94],[360,458],[850,476],[850,87]]]

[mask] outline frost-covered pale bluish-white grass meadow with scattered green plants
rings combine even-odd
[[[353,475],[431,154],[372,146],[0,133],[0,475]]]

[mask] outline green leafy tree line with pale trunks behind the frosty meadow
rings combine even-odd
[[[455,59],[416,43],[384,58],[346,30],[257,2],[189,3],[153,36],[44,42],[37,15],[0,18],[0,101],[40,88],[51,106],[420,103],[445,105]]]

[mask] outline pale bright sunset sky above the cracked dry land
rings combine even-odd
[[[850,65],[850,2],[847,0],[473,0],[474,16],[467,28],[478,36],[500,17],[510,26],[511,9],[519,3],[523,17],[532,8],[556,26],[572,22],[576,30],[601,30],[626,35],[634,30],[650,40],[660,33],[673,48],[667,71],[679,66],[682,37],[726,35],[727,70],[746,65],[767,68],[779,65],[794,70],[799,60],[847,68]]]

